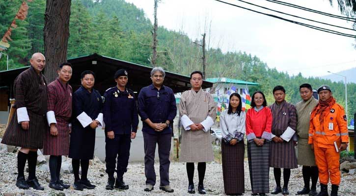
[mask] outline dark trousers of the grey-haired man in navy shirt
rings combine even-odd
[[[146,185],[156,184],[155,152],[158,145],[158,157],[160,158],[160,186],[169,185],[169,152],[172,134],[149,134],[143,132],[145,150],[145,176]]]

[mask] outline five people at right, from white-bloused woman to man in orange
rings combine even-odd
[[[319,101],[310,84],[300,86],[302,100],[296,106],[285,100],[283,86],[275,86],[275,102],[267,106],[265,95],[252,95],[251,109],[242,111],[242,99],[230,95],[229,106],[220,115],[222,131],[222,171],[227,195],[245,192],[244,135],[253,196],[270,193],[269,172],[274,170],[275,188],[271,194],[289,195],[291,169],[302,167],[304,187],[297,195],[337,196],[340,184],[339,151],[348,144],[347,118],[341,105],[332,97],[331,88],[318,88]],[[334,144],[335,143],[335,144]],[[298,157],[295,146],[298,144]],[[281,169],[283,168],[283,186]],[[320,178],[321,190],[316,190]],[[311,187],[310,187],[311,179]]]

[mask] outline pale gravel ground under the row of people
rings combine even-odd
[[[126,191],[108,191],[105,190],[107,183],[107,175],[105,173],[105,164],[98,159],[94,159],[92,166],[89,166],[89,180],[97,186],[94,190],[76,191],[72,188],[64,190],[63,192],[54,191],[48,187],[50,180],[50,173],[37,170],[37,178],[39,182],[45,187],[45,191],[36,191],[33,189],[20,190],[15,186],[17,176],[17,159],[14,153],[0,152],[0,195],[12,193],[12,195],[27,195],[27,196],[161,196],[168,195],[159,189],[159,164],[155,164],[157,176],[157,184],[155,189],[151,192],[144,192],[145,176],[143,163],[130,163],[128,172],[124,175],[124,181],[130,185],[130,189]],[[66,158],[67,161],[69,159]],[[65,161],[65,160],[64,160]],[[25,176],[27,176],[25,172]],[[62,173],[62,179],[66,183],[73,183],[73,174]],[[283,181],[283,180],[282,180]],[[197,171],[194,175],[195,186],[197,187]],[[282,182],[283,183],[283,182]],[[207,171],[204,180],[205,188],[208,192],[207,195],[225,195],[223,190],[222,169],[221,164],[212,162],[207,164]],[[172,162],[170,165],[170,185],[174,189],[171,196],[187,196],[188,179],[186,174],[186,167],[184,163]],[[348,173],[342,174],[339,195],[340,196],[356,196],[356,175]],[[289,182],[289,191],[291,195],[303,186],[303,179],[301,174],[301,167],[292,170],[291,179]],[[270,171],[270,191],[274,188],[273,170]],[[317,188],[320,190],[320,187]],[[330,189],[330,186],[329,186]],[[330,190],[329,190],[330,191]],[[248,163],[245,161],[245,196],[250,196],[251,186],[248,174]],[[64,193],[64,194],[63,194]],[[199,195],[199,194],[195,194]],[[269,194],[271,195],[271,194]]]

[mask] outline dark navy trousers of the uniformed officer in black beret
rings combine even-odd
[[[127,172],[127,165],[129,164],[130,157],[130,147],[130,134],[115,134],[114,139],[106,138],[105,162],[106,172],[108,173],[110,178],[114,177],[115,167],[117,172],[117,178],[119,179],[122,179],[124,173]]]

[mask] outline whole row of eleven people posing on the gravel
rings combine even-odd
[[[68,81],[72,65],[58,67],[58,78],[47,85],[42,74],[45,57],[35,53],[30,68],[20,73],[14,82],[16,111],[6,129],[2,143],[21,147],[17,156],[18,176],[16,186],[44,190],[36,175],[37,150],[43,148],[50,155],[49,187],[68,189],[70,185],[60,179],[61,156],[72,158],[75,190],[94,189],[87,177],[89,160],[94,157],[95,129],[105,129],[107,190],[126,190],[123,175],[127,172],[131,140],[136,138],[138,115],[143,123],[144,164],[146,186],[150,192],[156,183],[154,158],[156,146],[160,159],[160,189],[167,193],[174,190],[169,183],[169,152],[172,124],[177,114],[173,90],[163,85],[162,68],[151,71],[152,84],[140,90],[137,97],[126,88],[128,72],[114,74],[116,86],[105,91],[104,97],[96,91],[95,73],[81,74],[81,87],[72,95]],[[214,161],[210,128],[216,119],[216,103],[201,86],[203,74],[192,72],[192,89],[182,93],[179,116],[182,132],[179,161],[186,162],[188,193],[194,194],[194,163],[197,163],[198,193],[206,194],[204,177],[206,162]],[[228,195],[245,192],[244,136],[252,195],[269,193],[269,171],[274,168],[276,187],[272,194],[288,195],[291,169],[303,166],[304,188],[299,195],[317,195],[316,183],[320,176],[321,191],[318,196],[328,196],[329,177],[331,196],[337,196],[340,183],[339,153],[348,143],[347,119],[339,104],[335,103],[331,89],[323,85],[318,89],[319,102],[312,97],[309,84],[300,86],[303,99],[296,106],[285,101],[285,89],[276,86],[275,102],[267,106],[265,95],[256,91],[252,95],[251,109],[242,110],[242,99],[233,93],[229,107],[220,116],[223,142],[221,143],[224,190]],[[295,146],[298,141],[298,159]],[[28,162],[28,178],[24,169]],[[318,166],[318,167],[316,167]],[[82,168],[81,176],[79,169]],[[283,168],[283,187],[281,169]],[[114,176],[116,172],[116,178]],[[310,187],[310,178],[312,185]]]

